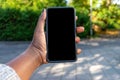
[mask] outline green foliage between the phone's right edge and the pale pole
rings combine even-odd
[[[88,37],[90,34],[90,2],[89,0],[72,0],[70,6],[76,9],[76,15],[78,16],[77,26],[84,26],[85,31],[78,34],[80,37]]]

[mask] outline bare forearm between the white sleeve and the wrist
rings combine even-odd
[[[8,62],[7,65],[17,72],[21,80],[29,80],[33,71],[42,64],[38,52],[35,47],[29,46],[21,55]]]

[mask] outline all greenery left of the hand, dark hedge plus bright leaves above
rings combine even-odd
[[[31,40],[44,8],[66,6],[65,0],[0,0],[0,40]]]

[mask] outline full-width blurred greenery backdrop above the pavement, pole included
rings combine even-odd
[[[0,40],[31,40],[42,10],[56,6],[76,9],[81,38],[120,37],[120,0],[0,0]]]

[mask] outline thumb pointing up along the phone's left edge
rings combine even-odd
[[[46,20],[46,10],[44,9],[41,16],[38,19],[36,32],[44,32],[45,20]]]

